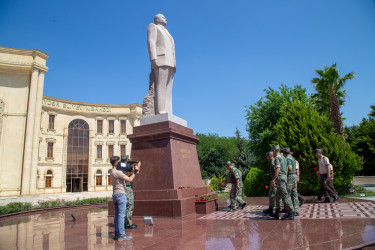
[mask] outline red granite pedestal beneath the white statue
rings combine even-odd
[[[134,216],[195,214],[195,195],[211,192],[203,186],[196,150],[199,138],[193,130],[165,121],[134,127],[128,138],[132,160],[142,161],[134,179]]]

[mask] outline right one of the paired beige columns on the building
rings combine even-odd
[[[38,91],[36,95],[35,104],[35,121],[34,121],[34,138],[32,146],[32,157],[31,157],[31,174],[30,174],[30,194],[36,192],[36,174],[38,167],[38,152],[39,152],[39,135],[40,135],[40,121],[42,116],[42,100],[43,100],[43,87],[44,87],[44,75],[45,72],[39,73],[38,79]]]

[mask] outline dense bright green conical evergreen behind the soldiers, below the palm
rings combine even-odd
[[[316,194],[319,189],[316,169],[316,148],[330,159],[334,168],[335,188],[345,193],[355,172],[363,166],[362,157],[355,154],[348,143],[334,132],[327,116],[319,114],[312,106],[300,101],[287,103],[282,117],[276,124],[277,140],[281,148],[290,147],[300,163],[301,182],[298,186],[305,195]]]

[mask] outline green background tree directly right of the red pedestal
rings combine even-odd
[[[235,137],[220,137],[217,134],[196,134],[199,137],[197,152],[202,178],[226,175],[225,163],[237,157]]]

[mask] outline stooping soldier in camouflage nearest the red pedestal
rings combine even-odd
[[[246,206],[246,202],[242,199],[242,173],[239,169],[233,167],[230,161],[227,162],[225,167],[229,170],[229,173],[226,181],[224,182],[224,186],[226,186],[228,182],[232,184],[232,188],[230,190],[230,211],[233,212],[237,210],[237,202],[240,204],[241,209]]]

